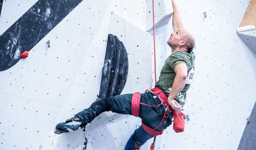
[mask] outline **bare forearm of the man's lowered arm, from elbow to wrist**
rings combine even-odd
[[[186,76],[176,75],[173,81],[171,92],[168,96],[168,101],[173,100],[179,94],[186,84]]]

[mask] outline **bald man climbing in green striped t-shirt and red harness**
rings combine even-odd
[[[171,125],[173,111],[169,110],[184,110],[186,92],[193,79],[195,67],[195,54],[192,52],[195,37],[183,28],[174,0],[172,5],[174,32],[167,41],[172,53],[162,67],[155,88],[141,94],[137,92],[98,99],[75,117],[57,124],[56,129],[63,132],[75,131],[79,127],[85,127],[104,111],[138,116],[142,119],[142,125],[134,131],[125,146],[125,150],[137,150],[148,139],[162,134]]]

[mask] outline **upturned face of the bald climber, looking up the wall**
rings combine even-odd
[[[167,44],[172,48],[172,51],[179,47],[179,43],[181,42],[182,37],[181,34],[181,29],[178,29],[177,31],[171,33],[171,36],[169,37]]]

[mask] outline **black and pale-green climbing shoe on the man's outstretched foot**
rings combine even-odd
[[[76,116],[68,119],[66,122],[61,122],[56,125],[55,134],[61,134],[63,132],[69,132],[70,130],[75,131],[79,129],[82,122],[76,119]]]

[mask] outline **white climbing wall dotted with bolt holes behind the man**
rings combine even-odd
[[[0,1],[1,38],[12,33],[9,45],[9,40],[0,41],[0,60],[15,62],[2,63],[0,71],[0,150],[81,150],[85,137],[88,150],[124,149],[141,125],[139,118],[102,114],[96,126],[86,126],[86,132],[56,135],[52,130],[97,99],[109,33],[124,43],[128,53],[128,77],[121,94],[154,86],[148,3],[6,0],[1,5]],[[236,32],[249,1],[176,3],[184,27],[196,36],[196,72],[184,111],[190,120],[183,133],[175,133],[172,126],[165,130],[157,137],[156,149],[236,150],[256,101],[256,56]],[[171,3],[161,4],[155,5],[172,10]],[[163,16],[172,13],[163,12],[167,12]],[[34,21],[22,22],[30,18]],[[173,32],[171,21],[156,29],[157,78],[171,54],[166,44]],[[26,59],[18,57],[23,50],[29,51]],[[150,149],[152,140],[141,149]]]

